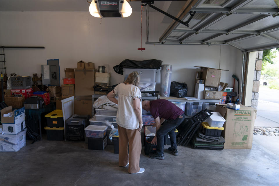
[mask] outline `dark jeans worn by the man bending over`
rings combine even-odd
[[[176,149],[176,135],[174,129],[182,123],[185,119],[185,115],[182,115],[182,118],[168,119],[160,126],[159,130],[156,133],[157,137],[157,153],[162,155],[164,153],[164,136],[169,133],[169,138],[171,140],[171,147]]]

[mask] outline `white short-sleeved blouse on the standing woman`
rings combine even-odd
[[[115,96],[118,96],[118,111],[116,117],[117,124],[126,129],[133,130],[139,128],[140,120],[137,118],[133,105],[133,100],[140,99],[141,101],[139,87],[120,83],[114,88],[113,93]],[[142,115],[141,102],[140,110]]]

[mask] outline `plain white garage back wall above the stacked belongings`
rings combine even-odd
[[[162,14],[151,12],[150,40],[157,42],[168,24],[160,24]],[[60,76],[64,68],[75,68],[76,62],[94,62],[95,67],[110,65],[111,84],[123,81],[113,70],[124,59],[160,59],[173,67],[172,81],[185,82],[188,95],[194,89],[194,66],[227,69],[222,82],[232,86],[232,74],[241,78],[242,54],[223,46],[146,45],[145,14],[143,16],[143,45],[140,47],[140,12],[128,18],[94,18],[88,12],[0,12],[0,46],[43,46],[45,49],[5,49],[7,74],[22,76],[40,74],[47,59],[59,59]],[[220,55],[221,51],[221,55]],[[1,51],[0,51],[1,53]],[[160,90],[160,78],[156,81]],[[62,81],[61,81],[62,83]]]

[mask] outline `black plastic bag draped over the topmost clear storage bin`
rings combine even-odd
[[[117,74],[123,75],[123,69],[160,69],[162,61],[158,59],[149,59],[143,61],[125,59],[119,65],[113,67]]]

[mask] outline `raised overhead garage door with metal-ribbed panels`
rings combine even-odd
[[[279,47],[279,10],[274,0],[188,0],[159,42],[147,44],[229,44],[250,52]]]

